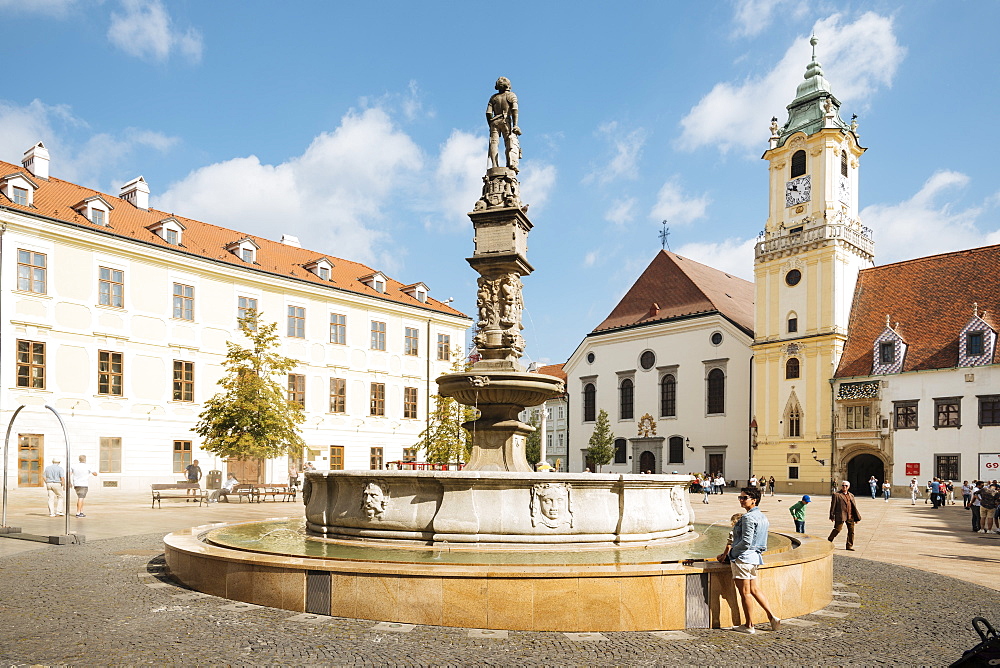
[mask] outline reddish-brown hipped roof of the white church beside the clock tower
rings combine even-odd
[[[718,312],[753,336],[753,299],[753,283],[661,250],[592,333]]]

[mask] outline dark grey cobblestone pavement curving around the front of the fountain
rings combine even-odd
[[[163,574],[162,536],[0,557],[0,664],[943,666],[978,641],[973,616],[1000,622],[1000,592],[836,556],[834,603],[776,633],[490,637],[298,615],[191,592]]]

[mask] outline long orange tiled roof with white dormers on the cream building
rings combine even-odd
[[[14,172],[25,173],[24,168],[19,165],[0,161],[0,179]],[[84,188],[75,183],[57,178],[49,178],[48,180],[34,179],[34,182],[38,184],[38,189],[34,194],[33,207],[14,204],[2,194],[0,194],[0,206],[15,211],[22,211],[29,215],[38,215],[57,221],[72,223],[99,233],[135,239],[144,243],[217,262],[224,262],[244,269],[257,270],[279,276],[290,276],[327,287],[330,287],[332,283],[332,287],[347,292],[386,299],[449,315],[468,317],[460,311],[451,308],[451,306],[430,297],[428,297],[426,302],[417,301],[415,297],[400,290],[400,288],[404,287],[402,283],[388,277],[386,292],[378,293],[373,288],[358,280],[360,277],[371,275],[377,270],[358,262],[335,258],[332,255],[325,255],[318,251],[289,246],[278,241],[247,235],[235,230],[228,230],[191,218],[184,218],[175,213],[157,211],[152,208],[149,210],[138,209],[124,199]],[[110,223],[106,226],[95,225],[73,210],[73,206],[80,201],[94,196],[104,198],[105,201],[114,207],[109,216]],[[159,236],[146,229],[148,226],[169,217],[175,218],[185,228],[181,246],[168,244]],[[259,246],[259,250],[256,253],[255,265],[248,265],[226,250],[226,246],[243,239],[250,239]],[[334,267],[330,271],[332,281],[324,281],[319,276],[303,268],[303,265],[315,260],[317,255],[327,257],[333,263]]]

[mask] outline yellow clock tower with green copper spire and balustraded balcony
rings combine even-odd
[[[830,379],[847,339],[858,271],[875,246],[858,219],[857,123],[812,62],[788,121],[771,121],[767,223],[754,256],[752,473],[787,493],[830,492]]]

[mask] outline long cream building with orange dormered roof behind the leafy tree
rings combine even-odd
[[[225,230],[148,206],[141,179],[119,197],[48,174],[41,144],[21,166],[0,162],[0,416],[13,427],[9,485],[72,458],[98,465],[100,485],[146,490],[227,463],[193,432],[219,391],[237,318],[276,321],[287,382],[301,401],[301,458],[240,463],[238,477],[286,480],[319,469],[383,468],[415,458],[433,379],[464,346],[469,319],[370,267]],[[15,440],[16,438],[16,440]],[[233,469],[230,462],[228,468]]]

